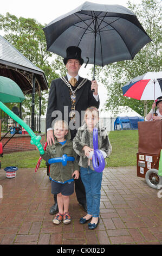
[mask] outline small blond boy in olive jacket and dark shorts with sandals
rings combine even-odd
[[[76,153],[73,150],[73,142],[70,140],[68,125],[64,120],[57,120],[54,124],[55,143],[47,145],[46,152],[41,155],[48,162],[49,159],[62,157],[63,154],[73,156],[76,159]],[[64,224],[72,221],[69,215],[70,195],[74,193],[74,179],[79,178],[79,166],[74,160],[67,161],[63,166],[61,162],[50,164],[51,193],[57,194],[57,204],[59,213],[55,215],[53,223]],[[74,178],[74,179],[73,179]]]

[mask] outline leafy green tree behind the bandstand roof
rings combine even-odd
[[[45,25],[44,25],[45,26]],[[0,14],[0,30],[4,32],[4,38],[20,51],[34,65],[44,71],[48,84],[53,79],[59,77],[57,69],[64,71],[61,57],[47,51],[46,38],[43,32],[43,25],[35,19],[19,19],[9,13],[6,16]],[[46,110],[48,91],[42,92],[42,114]],[[25,95],[27,100],[22,102],[22,106],[31,111],[31,95]],[[38,93],[35,95],[35,110],[38,111]]]

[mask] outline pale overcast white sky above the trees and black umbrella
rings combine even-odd
[[[7,0],[1,1],[0,13],[5,15],[7,12],[15,15],[17,17],[34,18],[36,21],[40,22],[42,25],[48,24],[50,21],[56,19],[63,14],[75,9],[84,0]],[[89,2],[100,3],[100,4],[120,4],[127,8],[127,0],[92,0]],[[139,4],[140,0],[131,0],[131,3]],[[91,76],[87,75],[90,66],[84,68],[84,64],[81,66],[79,75],[82,77],[89,78]],[[99,84],[99,95],[100,95],[100,109],[103,107],[106,97],[107,90],[102,84]]]

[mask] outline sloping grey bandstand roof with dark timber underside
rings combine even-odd
[[[43,70],[35,66],[14,46],[0,35],[0,75],[10,78],[20,86],[24,94],[32,92],[33,75],[35,90],[47,90],[48,83]]]

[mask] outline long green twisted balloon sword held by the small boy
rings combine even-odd
[[[17,117],[16,114],[14,114],[7,106],[5,106],[1,101],[0,101],[0,108],[7,113],[12,119],[14,119],[18,124],[20,124],[30,135],[31,137],[31,141],[30,143],[32,145],[36,145],[36,147],[38,148],[38,150],[40,151],[40,154],[43,155],[44,154],[44,150],[41,144],[41,136],[38,135],[36,136],[35,133],[30,129],[30,127],[24,123],[24,121]]]

